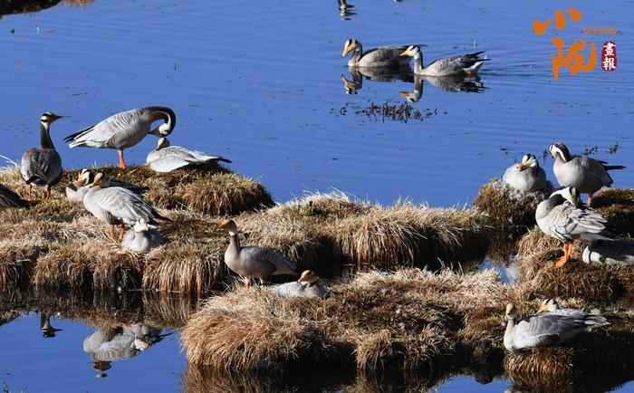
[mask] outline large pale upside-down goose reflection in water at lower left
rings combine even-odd
[[[169,334],[160,334],[161,329],[145,324],[98,329],[83,340],[83,350],[91,357],[92,368],[101,371],[97,377],[112,367],[112,361],[132,359],[143,350],[163,340]]]

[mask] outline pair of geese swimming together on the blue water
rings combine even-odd
[[[414,73],[423,76],[475,75],[484,62],[484,52],[467,53],[462,56],[444,57],[423,65],[423,53],[418,45],[381,46],[363,51],[358,40],[350,39],[343,44],[341,57],[352,53],[349,67],[381,68],[399,70],[409,68],[410,57],[414,58]]]

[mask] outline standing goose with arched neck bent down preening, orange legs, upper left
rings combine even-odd
[[[164,123],[151,129],[155,121]],[[72,148],[88,147],[98,149],[117,149],[119,167],[126,168],[123,150],[131,148],[148,134],[167,137],[176,127],[176,114],[168,107],[146,107],[127,110],[110,116],[106,120],[87,129],[82,129],[64,139]]]

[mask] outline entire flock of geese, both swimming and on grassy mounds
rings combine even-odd
[[[404,68],[414,58],[414,73],[427,76],[474,75],[482,67],[486,57],[482,52],[438,59],[423,65],[423,56],[418,45],[389,46],[363,51],[361,43],[351,39],[344,44],[341,56],[348,53],[348,65],[357,68]],[[33,187],[46,187],[45,198],[51,197],[51,187],[62,178],[62,158],[53,145],[50,131],[54,121],[62,116],[46,112],[40,119],[40,148],[24,152],[20,172],[28,187],[27,200],[14,191],[0,185],[0,208],[27,207],[33,203]],[[128,110],[110,116],[99,123],[82,129],[64,139],[71,148],[88,147],[116,149],[119,152],[120,168],[126,168],[123,151],[129,149],[148,134],[159,137],[157,148],[150,151],[147,164],[158,172],[169,172],[177,168],[204,165],[211,161],[231,162],[221,156],[209,155],[197,150],[170,146],[168,135],[176,126],[176,114],[168,107],[150,106]],[[158,127],[152,128],[157,121]],[[606,220],[591,208],[591,197],[601,187],[610,187],[611,169],[604,161],[583,156],[573,156],[562,143],[550,147],[554,158],[554,173],[562,188],[552,192],[548,199],[537,206],[535,218],[546,235],[564,243],[564,255],[555,266],[562,267],[571,259],[572,244],[577,239],[593,242],[583,253],[587,262],[614,261],[634,262],[632,244],[611,234],[605,227]],[[522,161],[504,172],[503,181],[515,190],[527,193],[548,187],[543,168],[537,158],[527,154]],[[168,220],[140,195],[139,189],[116,182],[104,173],[93,173],[84,168],[75,181],[66,187],[66,197],[83,206],[93,216],[110,225],[110,239],[115,238],[115,225],[119,225],[119,241],[123,248],[134,252],[147,252],[165,244],[159,233],[157,220]],[[588,194],[588,204],[581,202],[581,193]],[[241,246],[237,225],[233,220],[224,220],[220,228],[228,232],[230,241],[225,253],[226,266],[239,274],[247,287],[252,280],[260,284],[274,275],[297,275],[295,262],[278,252],[257,246]],[[130,229],[126,230],[127,227]],[[319,277],[310,270],[304,271],[299,280],[268,287],[283,296],[324,297],[327,289]],[[504,334],[504,346],[508,350],[521,350],[542,345],[556,345],[570,340],[576,334],[592,327],[609,324],[605,318],[571,309],[559,309],[553,300],[544,302],[536,315],[518,321],[514,304],[506,308],[508,320]]]

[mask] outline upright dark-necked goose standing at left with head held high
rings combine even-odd
[[[33,199],[33,186],[46,186],[46,199],[51,198],[51,186],[62,178],[62,158],[51,139],[51,124],[62,119],[52,112],[44,112],[40,118],[40,148],[28,149],[22,156],[20,173],[29,186],[28,200]]]

